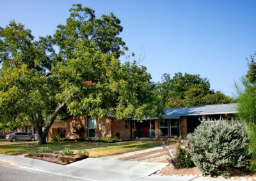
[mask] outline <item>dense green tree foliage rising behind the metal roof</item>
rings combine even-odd
[[[231,98],[210,90],[207,78],[200,75],[175,73],[173,78],[164,73],[158,88],[166,108],[230,103]]]

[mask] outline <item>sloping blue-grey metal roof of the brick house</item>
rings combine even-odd
[[[237,103],[230,103],[224,105],[205,105],[186,108],[165,109],[164,118],[178,118],[181,116],[189,115],[216,115],[225,113],[237,113],[237,105]]]

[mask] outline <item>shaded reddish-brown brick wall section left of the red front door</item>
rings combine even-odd
[[[116,133],[120,134],[120,139],[131,139],[131,125],[129,125],[129,129],[125,129],[125,120],[112,119],[111,134],[115,136]]]

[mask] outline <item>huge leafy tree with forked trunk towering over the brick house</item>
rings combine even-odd
[[[0,27],[1,123],[30,122],[38,144],[45,144],[63,110],[116,119],[156,117],[160,99],[147,69],[118,59],[127,50],[121,31],[112,13],[95,18],[95,11],[81,4],[73,5],[53,36],[38,41],[14,21]]]

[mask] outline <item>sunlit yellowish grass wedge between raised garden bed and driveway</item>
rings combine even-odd
[[[89,152],[90,157],[100,157],[158,146],[161,146],[161,141],[126,141],[102,145],[100,147],[86,148],[86,151]],[[77,150],[74,151],[75,154],[76,152]]]

